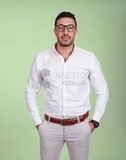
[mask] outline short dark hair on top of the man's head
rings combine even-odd
[[[76,21],[75,15],[73,13],[65,12],[65,11],[58,14],[58,16],[55,19],[55,24],[54,25],[56,26],[56,23],[57,23],[58,19],[64,18],[64,17],[72,18],[75,21],[75,25],[77,27],[77,21]]]

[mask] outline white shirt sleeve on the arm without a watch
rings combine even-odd
[[[25,89],[26,104],[35,126],[42,123],[37,101],[37,96],[39,90],[41,89],[42,83],[42,75],[38,66],[39,65],[36,56]]]

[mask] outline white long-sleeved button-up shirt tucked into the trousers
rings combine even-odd
[[[37,104],[41,86],[44,87],[44,113],[64,119],[90,110],[90,82],[97,96],[92,119],[99,122],[109,92],[96,56],[78,47],[74,47],[66,62],[55,47],[37,54],[25,90],[34,124],[42,123]]]

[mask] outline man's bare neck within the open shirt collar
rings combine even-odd
[[[74,44],[72,44],[68,47],[63,47],[57,43],[55,47],[56,47],[57,52],[59,54],[61,54],[63,56],[64,60],[66,61],[74,49]]]

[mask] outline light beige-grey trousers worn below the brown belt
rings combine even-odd
[[[59,160],[66,142],[70,160],[88,160],[91,129],[89,118],[70,126],[44,120],[39,126],[41,160]]]

